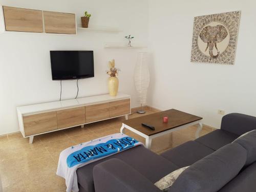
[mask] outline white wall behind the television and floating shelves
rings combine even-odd
[[[108,93],[105,70],[108,60],[115,58],[119,75],[119,91],[132,95],[132,106],[137,106],[133,83],[138,50],[106,50],[103,42],[125,41],[132,34],[134,42],[146,42],[148,32],[148,3],[146,0],[1,0],[1,5],[39,10],[70,12],[80,16],[92,14],[90,25],[117,27],[123,32],[95,33],[78,31],[73,35],[36,33],[0,34],[0,135],[17,132],[16,106],[56,101],[60,82],[52,81],[50,50],[93,50],[95,77],[79,80],[78,97]],[[76,95],[76,81],[62,83],[62,98]]]

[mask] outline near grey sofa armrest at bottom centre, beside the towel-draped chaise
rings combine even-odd
[[[96,192],[144,192],[161,190],[130,165],[119,159],[110,159],[93,168]]]

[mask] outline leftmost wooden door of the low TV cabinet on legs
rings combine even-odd
[[[49,132],[57,129],[56,112],[23,116],[25,136]]]

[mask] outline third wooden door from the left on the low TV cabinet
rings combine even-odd
[[[86,122],[93,122],[110,118],[109,103],[86,106]]]

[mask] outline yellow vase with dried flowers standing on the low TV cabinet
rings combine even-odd
[[[110,75],[108,79],[108,87],[110,96],[116,96],[118,92],[119,80],[117,78],[120,69],[115,67],[115,60],[109,61],[110,70],[106,71]]]

